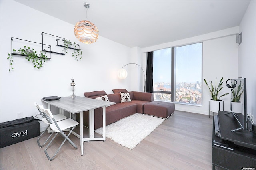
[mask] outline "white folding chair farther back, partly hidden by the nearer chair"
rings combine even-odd
[[[34,105],[36,105],[36,108],[38,109],[38,111],[39,111],[39,113],[41,114],[41,116],[42,116],[42,121],[46,124],[46,125],[48,125],[48,127],[44,130],[44,132],[46,132],[46,130],[48,130],[48,128],[50,127],[50,124],[49,124],[49,122],[46,120],[46,117],[45,117],[45,115],[44,115],[44,113],[42,112],[42,110],[41,110],[41,108],[42,108],[42,105],[38,105],[36,102],[34,103]],[[56,114],[56,115],[54,115],[54,119],[58,122],[58,121],[62,121],[62,120],[64,120],[64,119],[67,119],[67,117],[66,116],[64,116],[64,115],[62,115],[62,114]],[[44,142],[44,144],[40,144],[40,142],[39,142],[39,140],[40,140],[40,138],[42,137],[42,135],[44,134],[44,132],[42,132],[42,134],[40,134],[40,136],[38,137],[38,139],[37,139],[37,144],[38,144],[38,146],[40,147],[40,148],[42,148],[45,144],[46,144],[46,142],[51,138],[51,136],[52,136],[52,134],[46,139],[46,141]]]

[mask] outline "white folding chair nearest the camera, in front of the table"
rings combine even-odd
[[[76,145],[70,140],[70,138],[68,138],[68,136],[71,134],[71,132],[74,130],[74,128],[76,127],[76,125],[78,125],[78,122],[77,121],[74,121],[73,119],[71,118],[68,118],[68,119],[65,119],[65,120],[62,120],[62,121],[56,121],[54,116],[52,115],[52,112],[49,110],[49,109],[44,109],[44,108],[41,108],[45,117],[46,117],[46,120],[49,121],[50,123],[50,128],[56,132],[56,134],[54,135],[54,137],[52,138],[52,140],[49,142],[49,144],[46,146],[44,152],[47,156],[47,158],[49,160],[53,160],[54,157],[56,156],[56,154],[59,152],[60,148],[62,147],[62,145],[64,144],[64,142],[66,140],[68,140],[68,142],[70,142],[70,144],[72,144],[72,146],[74,146],[75,149],[77,149]],[[72,128],[70,130],[70,128]],[[70,132],[68,133],[68,135],[66,135],[63,131],[64,130],[70,130]],[[54,133],[53,132],[53,133]],[[54,156],[52,156],[52,158],[50,158],[49,154],[47,153],[47,149],[48,147],[50,146],[50,144],[52,143],[52,141],[54,140],[54,138],[57,136],[57,134],[60,134],[62,137],[64,137],[65,139],[63,140],[62,144],[60,145],[60,147],[57,149],[57,151],[55,152]]]

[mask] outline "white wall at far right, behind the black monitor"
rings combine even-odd
[[[256,1],[251,1],[239,27],[243,32],[238,48],[238,76],[246,78],[247,110],[256,122]]]

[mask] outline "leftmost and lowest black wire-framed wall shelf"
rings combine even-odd
[[[48,48],[48,50],[45,52],[50,53],[50,57],[47,56],[46,58],[52,59],[52,46],[51,45],[42,44],[42,43],[38,43],[38,42],[32,42],[29,40],[23,40],[23,39],[15,38],[15,37],[11,38],[11,42],[12,42],[12,53],[11,53],[12,55],[20,55],[20,56],[25,56],[25,57],[28,56],[28,55],[24,55],[24,54],[21,54],[18,52],[18,50],[23,48],[24,46],[33,48],[34,51],[40,51],[40,53],[42,53],[42,50],[40,47],[41,47],[41,45],[43,45],[44,47]],[[14,51],[13,51],[14,49],[16,50],[16,53],[14,53]],[[38,58],[41,58],[41,57],[38,57]]]

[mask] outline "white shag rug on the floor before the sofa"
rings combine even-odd
[[[163,121],[164,118],[135,113],[107,125],[106,137],[126,148],[133,149]],[[103,128],[98,128],[95,131],[100,135],[103,134]]]

